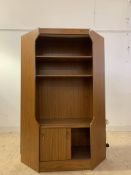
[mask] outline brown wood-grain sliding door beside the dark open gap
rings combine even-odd
[[[66,128],[41,129],[40,161],[67,160],[70,155],[70,130]],[[71,146],[70,146],[71,147]]]

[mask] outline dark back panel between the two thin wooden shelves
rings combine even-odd
[[[92,74],[92,60],[86,62],[38,62],[40,75],[83,75]]]

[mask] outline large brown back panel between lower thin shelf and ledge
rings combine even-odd
[[[37,80],[40,119],[92,118],[92,79]]]

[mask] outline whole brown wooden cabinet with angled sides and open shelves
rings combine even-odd
[[[22,36],[21,161],[93,169],[106,156],[104,39],[88,29]]]

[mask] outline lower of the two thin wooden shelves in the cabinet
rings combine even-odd
[[[92,75],[36,75],[37,78],[90,78]]]

